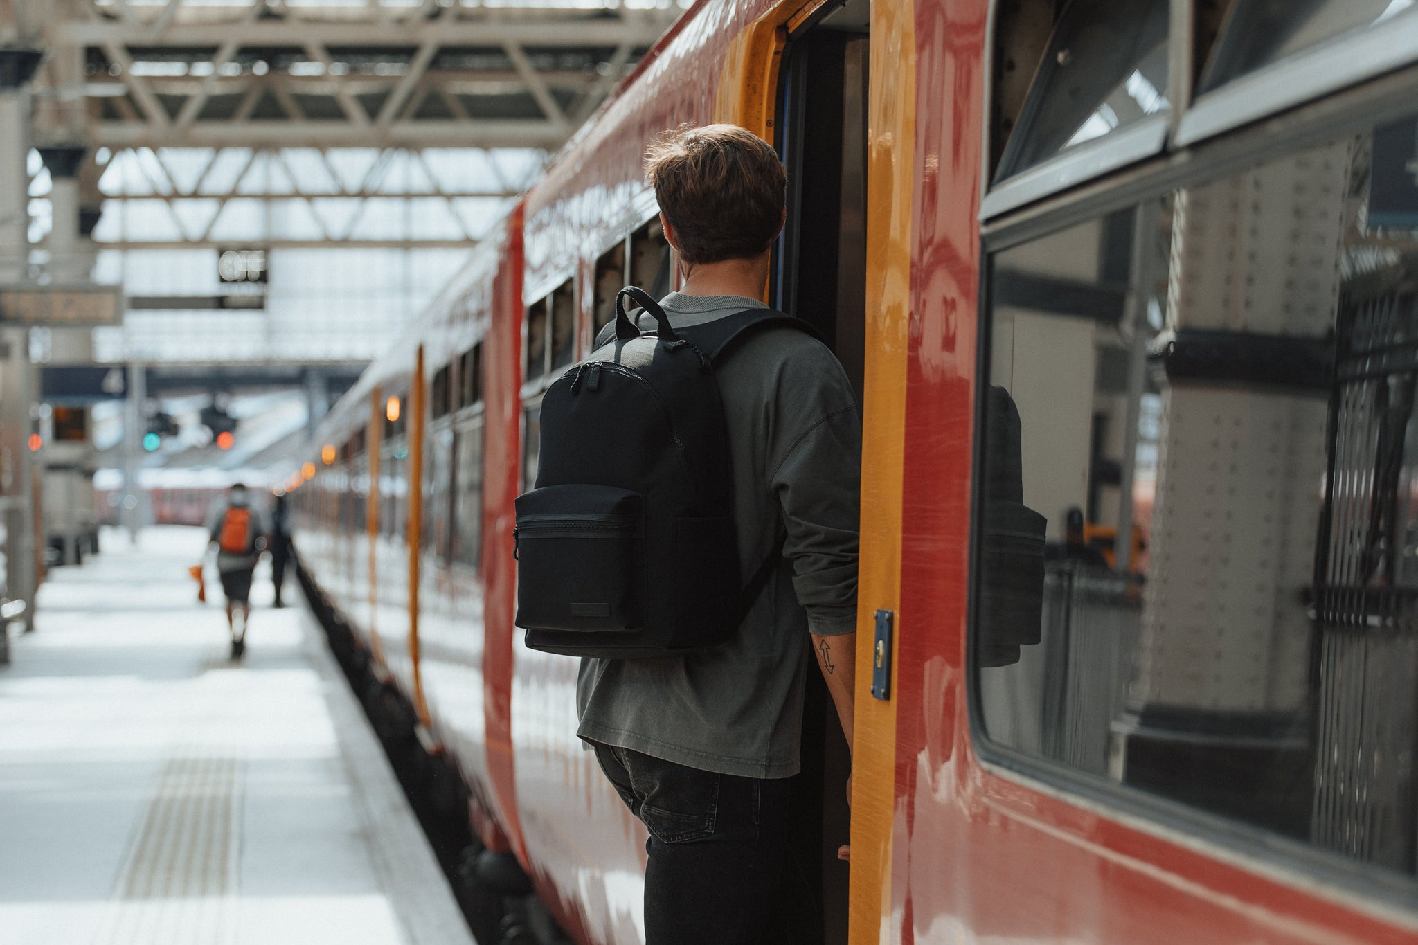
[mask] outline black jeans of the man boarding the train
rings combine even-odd
[[[596,745],[649,829],[645,945],[763,945],[787,850],[788,779],[720,775]]]

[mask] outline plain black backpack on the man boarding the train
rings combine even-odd
[[[654,316],[641,334],[630,296]],[[740,584],[729,431],[713,366],[769,324],[750,309],[674,329],[645,292],[615,334],[542,400],[536,487],[516,500],[516,625],[535,650],[675,656],[726,642],[781,553]]]

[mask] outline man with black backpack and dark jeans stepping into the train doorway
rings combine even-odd
[[[786,861],[788,779],[800,769],[808,646],[848,747],[852,740],[861,417],[831,350],[803,323],[794,327],[795,320],[761,302],[770,249],[786,220],[787,173],[774,150],[732,125],[682,128],[649,143],[645,176],[675,249],[681,288],[658,306],[640,293],[641,324],[632,326],[621,310],[588,361],[557,381],[563,390],[550,390],[543,401],[537,489],[518,500],[518,623],[529,628],[529,646],[583,653],[577,735],[649,832],[648,945],[756,945]],[[658,322],[654,337],[640,336],[641,327],[651,327],[647,312]],[[676,358],[689,364],[681,380],[666,374],[665,364]],[[732,480],[727,565],[709,560],[709,541],[695,541],[688,551],[674,547],[675,530],[700,520],[681,514],[664,528],[654,520],[654,497],[671,486],[683,489],[682,482],[617,489],[630,483],[608,472],[615,458],[605,453],[613,446],[596,449],[590,439],[559,451],[556,439],[557,411],[576,411],[577,419],[564,428],[566,436],[580,436],[600,422],[596,409],[647,400],[615,401],[608,394],[615,383],[631,378],[668,390],[702,383],[689,377],[700,366],[700,373],[712,367],[722,395],[729,453],[723,475]],[[655,371],[658,381],[647,381]],[[597,398],[604,407],[597,408]],[[664,400],[685,398],[676,401],[669,391]],[[692,407],[678,404],[681,422]],[[613,426],[607,431],[610,443],[621,442]],[[676,443],[678,436],[676,431]],[[644,435],[624,442],[669,439]],[[577,463],[590,472],[560,479],[552,472]],[[705,465],[681,465],[676,475],[693,479],[696,468]],[[727,485],[709,483],[709,492]],[[569,511],[567,502],[580,504]],[[627,570],[654,579],[641,587],[638,575],[594,575],[590,584],[625,587],[590,599],[597,588],[577,584],[577,575],[587,574],[579,570],[604,567],[611,550],[631,547],[625,536],[632,533],[642,536],[645,548],[628,551],[623,561],[637,562]],[[669,537],[655,537],[662,533]],[[593,547],[607,553],[587,551]],[[658,554],[657,547],[671,554]],[[625,650],[631,657],[617,657],[610,647],[576,649],[591,635],[567,636],[567,630],[644,639],[657,621],[657,595],[682,578],[658,577],[665,568],[661,558],[681,554],[691,555],[689,570],[727,570],[733,589],[743,588],[733,618],[718,628],[722,642],[662,653],[631,647]],[[587,562],[591,558],[594,564]],[[683,587],[703,587],[693,584],[695,575],[683,579],[689,581]],[[644,613],[635,609],[637,595],[645,596]],[[554,609],[549,602],[559,596],[567,598],[566,622],[547,616]],[[666,601],[664,612],[671,616],[664,619],[672,622],[675,612],[685,619],[686,609],[719,604],[700,599],[686,608],[683,601]],[[637,615],[621,616],[623,611]],[[557,649],[559,640],[571,640],[570,649]],[[847,857],[847,847],[839,856]]]

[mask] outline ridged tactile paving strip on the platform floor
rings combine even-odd
[[[241,762],[183,754],[157,782],[94,945],[230,945]]]

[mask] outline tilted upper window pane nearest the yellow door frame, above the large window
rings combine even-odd
[[[1073,0],[1054,26],[995,183],[1168,109],[1167,0]]]

